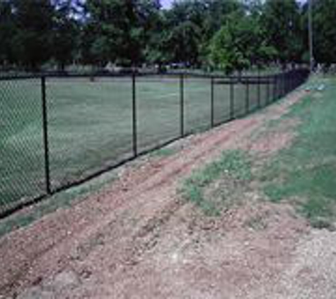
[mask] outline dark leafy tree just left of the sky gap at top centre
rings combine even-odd
[[[88,0],[86,56],[100,64],[138,64],[159,8],[157,0]]]

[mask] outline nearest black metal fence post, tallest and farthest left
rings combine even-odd
[[[45,86],[45,76],[41,77],[41,92],[42,92],[42,130],[43,130],[43,145],[45,150],[45,190],[47,194],[52,193],[50,184],[50,160],[49,160],[49,140],[48,140],[48,115],[47,115],[47,93]]]

